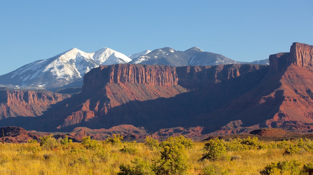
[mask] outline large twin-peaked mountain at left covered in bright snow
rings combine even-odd
[[[46,60],[34,61],[0,76],[0,84],[27,88],[56,88],[81,79],[92,68],[131,61],[126,55],[109,48],[86,53],[76,48]]]

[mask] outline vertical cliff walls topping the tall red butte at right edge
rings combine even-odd
[[[313,66],[313,45],[292,43],[290,52],[269,56],[270,72],[286,70],[291,64],[295,66]]]

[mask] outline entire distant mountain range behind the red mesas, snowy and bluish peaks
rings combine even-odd
[[[197,47],[177,51],[169,47],[145,50],[126,56],[110,48],[86,53],[76,48],[49,59],[38,60],[0,76],[2,87],[49,89],[81,87],[83,76],[100,65],[145,64],[169,66],[200,66],[219,64],[268,64],[267,60],[238,62],[223,55],[205,52]]]

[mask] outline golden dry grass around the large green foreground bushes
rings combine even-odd
[[[134,166],[135,159],[153,165],[161,158],[162,147],[151,147],[145,143],[95,141],[90,137],[87,142],[61,144],[56,140],[56,145],[48,147],[36,141],[0,144],[0,174],[117,174],[121,165]],[[186,156],[187,170],[177,174],[206,174],[203,169],[213,165],[223,170],[224,174],[256,175],[271,162],[296,160],[301,164],[299,168],[302,168],[313,161],[313,147],[310,147],[313,144],[307,139],[276,142],[254,140],[255,145],[241,140],[240,148],[231,148],[238,140],[222,142],[227,148],[224,158],[211,160],[203,159],[208,152],[204,149],[206,142],[180,147]],[[290,146],[291,152],[288,152]],[[123,148],[128,149],[123,151]],[[225,157],[232,157],[232,160]],[[300,174],[308,173],[302,170]]]

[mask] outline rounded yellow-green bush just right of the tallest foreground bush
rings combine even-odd
[[[218,138],[210,140],[204,144],[204,149],[207,151],[203,154],[203,159],[216,161],[218,159],[230,160],[230,157],[226,155],[226,147],[224,141]]]

